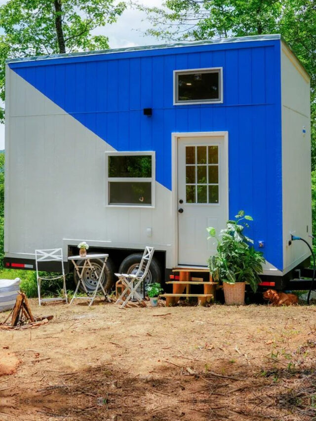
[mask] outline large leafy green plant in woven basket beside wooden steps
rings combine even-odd
[[[259,273],[265,263],[263,253],[256,251],[243,230],[249,225],[246,221],[253,221],[251,216],[239,211],[235,221],[227,221],[226,228],[221,230],[220,238],[216,230],[207,228],[208,238],[216,238],[217,254],[208,260],[208,267],[214,281],[222,281],[225,304],[244,304],[245,282],[250,284],[256,292],[261,282]]]

